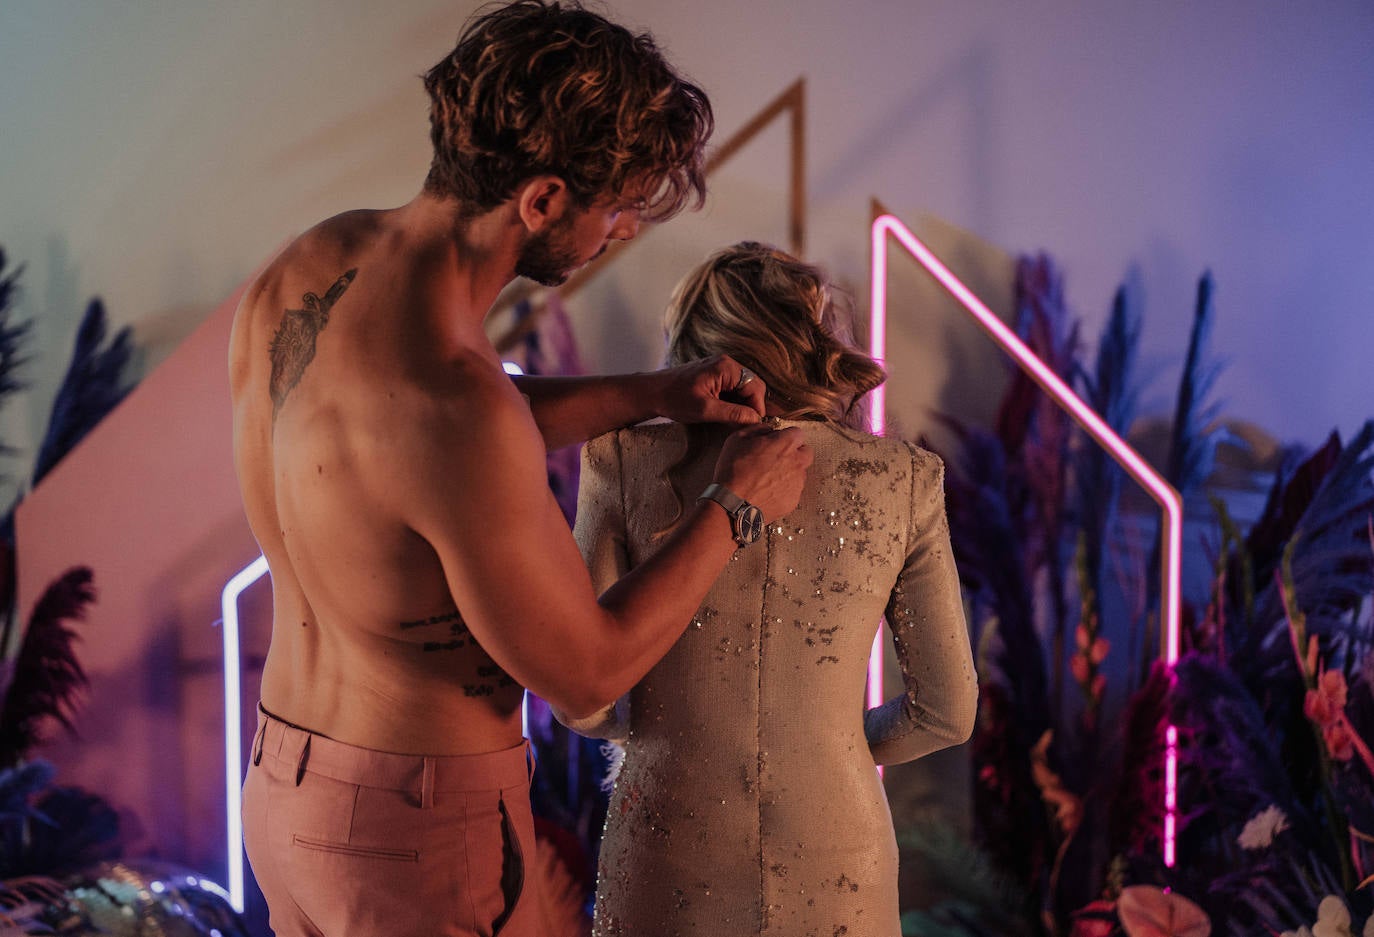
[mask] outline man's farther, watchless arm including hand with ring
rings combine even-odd
[[[655,416],[679,423],[757,423],[767,389],[757,378],[741,386],[742,374],[734,359],[717,354],[640,374],[511,379],[529,397],[544,448],[558,449]]]

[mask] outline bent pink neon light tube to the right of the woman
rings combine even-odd
[[[1125,440],[1107,426],[1101,416],[1094,412],[1073,390],[1051,371],[1044,361],[1036,357],[1035,352],[1026,348],[1025,342],[1017,338],[998,316],[982,304],[978,297],[966,287],[959,278],[940,262],[929,247],[926,247],[911,231],[892,214],[883,214],[872,223],[872,348],[874,357],[879,361],[886,352],[886,321],[888,321],[888,235],[896,238],[903,247],[911,253],[940,286],[949,291],[965,309],[967,309],[978,324],[992,337],[998,345],[1007,350],[1017,364],[1020,364],[1040,387],[1054,397],[1061,407],[1091,436],[1098,445],[1107,451],[1116,462],[1142,488],[1149,492],[1164,511],[1164,523],[1160,537],[1162,541],[1162,584],[1160,588],[1160,603],[1164,611],[1164,662],[1173,666],[1179,659],[1179,600],[1183,569],[1183,499],[1150,464],[1132,449]],[[874,397],[874,411],[882,412],[881,397]],[[875,426],[881,423],[875,422]],[[881,670],[878,679],[881,680]],[[870,698],[872,697],[872,664],[870,661]],[[882,687],[878,684],[878,698],[882,698]],[[1167,730],[1165,761],[1164,761],[1164,864],[1173,866],[1175,837],[1178,827],[1178,728],[1169,725]]]

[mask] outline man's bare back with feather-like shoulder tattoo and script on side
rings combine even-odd
[[[522,401],[493,378],[495,353],[440,360],[442,311],[423,294],[431,256],[398,245],[390,216],[309,232],[253,284],[235,324],[236,462],[276,620],[262,705],[378,750],[493,750],[519,732],[522,690],[473,640],[434,550],[401,519],[392,456],[430,392],[418,383],[440,367],[492,371],[448,389],[477,416],[464,445],[499,444],[478,429],[489,398]]]

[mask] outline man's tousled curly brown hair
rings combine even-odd
[[[478,12],[425,74],[434,159],[425,190],[474,213],[539,174],[589,205],[643,187],[661,221],[706,195],[710,102],[633,34],[576,0]]]

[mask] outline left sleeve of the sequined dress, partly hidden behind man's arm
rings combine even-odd
[[[629,572],[621,463],[617,433],[599,436],[583,447],[573,537],[598,595]],[[578,735],[622,741],[629,731],[629,699],[622,698],[585,719],[572,719],[555,708],[554,717]]]

